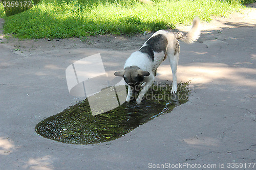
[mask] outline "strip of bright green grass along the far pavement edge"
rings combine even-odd
[[[249,0],[247,0],[249,1]],[[88,35],[133,35],[144,31],[175,28],[191,23],[195,16],[227,16],[241,9],[239,0],[138,1],[41,0],[32,9],[4,17],[4,33],[18,38],[69,38]]]

